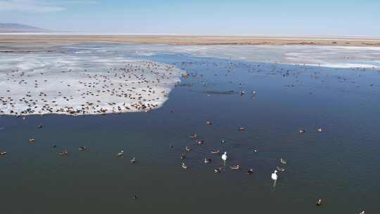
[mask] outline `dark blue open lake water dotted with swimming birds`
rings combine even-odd
[[[189,76],[148,113],[2,115],[1,213],[380,212],[376,64],[326,68],[116,44],[58,46],[53,53],[86,54],[73,47],[174,65]],[[59,156],[65,149],[68,156]],[[214,149],[227,151],[226,165]],[[237,163],[240,170],[229,168]],[[277,166],[285,171],[274,184]],[[322,206],[315,206],[319,198]]]

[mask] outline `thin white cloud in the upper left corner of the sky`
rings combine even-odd
[[[65,10],[66,8],[61,6],[53,6],[34,0],[0,0],[0,11],[45,13]]]

